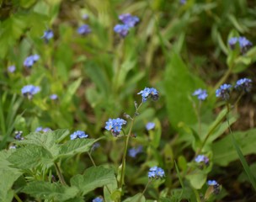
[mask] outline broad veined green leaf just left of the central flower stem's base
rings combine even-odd
[[[87,194],[96,188],[107,184],[116,183],[115,174],[112,169],[100,167],[89,167],[83,175],[78,174],[71,178],[70,183],[76,186],[83,194]]]

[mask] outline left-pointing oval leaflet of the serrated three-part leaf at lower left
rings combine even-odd
[[[34,145],[16,149],[10,157],[8,157],[9,162],[21,169],[31,169],[39,165],[50,167],[53,160],[54,159],[49,151],[42,146]]]

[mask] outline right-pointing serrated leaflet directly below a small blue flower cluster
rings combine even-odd
[[[65,142],[60,146],[58,157],[71,157],[77,153],[87,152],[93,146],[93,139],[76,139]]]

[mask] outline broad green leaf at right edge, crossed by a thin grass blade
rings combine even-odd
[[[252,142],[256,141],[256,130],[236,131],[232,135],[237,140],[237,146],[240,147],[243,155],[255,154],[255,146]],[[220,166],[227,166],[230,162],[238,159],[237,151],[232,145],[232,137],[225,136],[220,141],[212,145],[213,162]]]

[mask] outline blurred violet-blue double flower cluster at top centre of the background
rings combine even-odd
[[[123,24],[116,24],[114,31],[115,33],[118,33],[122,38],[125,38],[125,36],[128,35],[129,30],[135,27],[136,24],[138,24],[140,21],[138,17],[133,16],[130,13],[121,14],[119,19]]]

